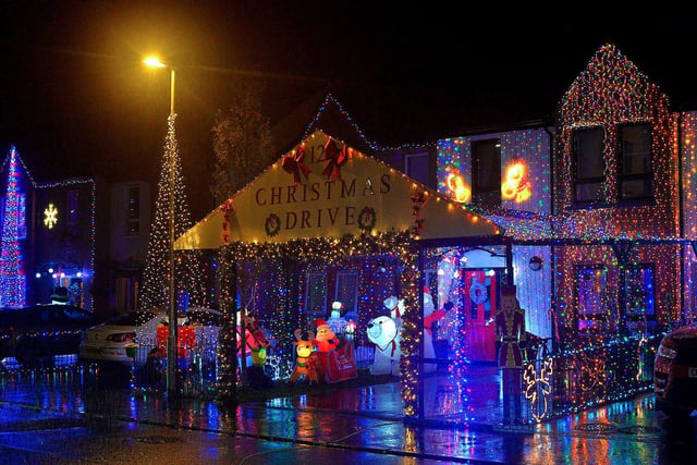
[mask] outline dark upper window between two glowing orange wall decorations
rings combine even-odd
[[[481,207],[501,208],[501,144],[472,143],[472,199]]]

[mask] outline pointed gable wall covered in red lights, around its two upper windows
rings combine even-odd
[[[650,234],[670,237],[676,233],[677,172],[674,144],[675,117],[668,97],[613,45],[603,45],[564,95],[558,113],[555,148],[555,211],[564,220],[566,234],[582,237]],[[650,197],[624,199],[621,131],[625,125],[650,130]],[[600,200],[589,205],[576,197],[578,167],[588,162],[575,154],[574,134],[580,129],[601,130],[601,173],[597,180]],[[648,193],[649,191],[647,191]]]

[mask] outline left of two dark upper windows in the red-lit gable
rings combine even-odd
[[[574,132],[574,200],[600,203],[604,196],[604,158],[601,127],[580,129]]]

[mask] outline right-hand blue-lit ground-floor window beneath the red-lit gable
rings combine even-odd
[[[631,265],[624,270],[627,327],[645,332],[656,322],[653,266]]]

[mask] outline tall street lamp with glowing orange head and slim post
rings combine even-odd
[[[168,68],[156,57],[148,57],[143,62],[150,68]],[[174,69],[170,68],[170,118],[174,113]],[[173,124],[173,122],[172,122]],[[169,333],[167,336],[167,392],[176,395],[176,310],[174,306],[174,152],[169,154],[169,182],[170,182],[170,298],[169,298]]]

